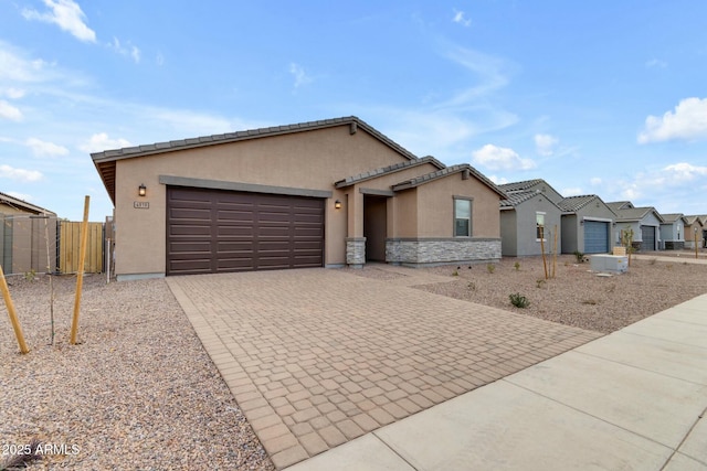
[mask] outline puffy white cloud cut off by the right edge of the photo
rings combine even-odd
[[[707,138],[707,98],[693,97],[685,98],[675,111],[666,111],[663,117],[648,116],[645,130],[639,135],[639,143],[699,138]]]

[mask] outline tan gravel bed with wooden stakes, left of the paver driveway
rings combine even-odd
[[[274,469],[165,280],[86,276],[77,345],[75,277],[53,277],[53,345],[49,277],[9,281],[30,353],[0,302],[0,470],[32,439],[30,469]]]

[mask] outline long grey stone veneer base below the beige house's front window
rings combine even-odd
[[[397,265],[442,265],[500,259],[497,238],[389,238],[386,261]]]

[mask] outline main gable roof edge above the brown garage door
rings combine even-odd
[[[324,119],[319,121],[298,122],[295,125],[274,126],[270,128],[250,129],[236,132],[226,132],[223,135],[202,136],[191,139],[180,139],[169,142],[157,142],[146,146],[126,147],[123,149],[105,150],[103,152],[93,152],[91,158],[94,165],[108,191],[110,200],[115,203],[115,167],[116,161],[130,159],[136,157],[152,156],[156,153],[171,152],[176,150],[192,149],[205,146],[215,146],[229,142],[235,142],[249,139],[258,139],[271,136],[288,135],[293,132],[312,131],[316,129],[331,128],[336,126],[351,126],[351,133],[358,128],[366,130],[368,133],[380,140],[391,149],[399,152],[409,160],[418,159],[412,152],[394,142],[373,127],[366,124],[356,116],[342,118]]]

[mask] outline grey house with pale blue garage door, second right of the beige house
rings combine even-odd
[[[570,196],[558,206],[562,210],[562,254],[611,251],[616,216],[599,196]]]

